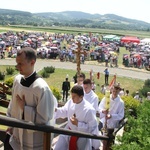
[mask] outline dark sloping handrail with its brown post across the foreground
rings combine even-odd
[[[108,136],[100,136],[100,135],[98,136],[98,135],[93,135],[90,133],[57,128],[54,126],[34,124],[32,122],[26,122],[26,121],[18,120],[15,118],[6,117],[3,115],[0,115],[0,124],[11,126],[11,127],[17,127],[17,128],[29,129],[29,130],[37,130],[37,131],[43,132],[44,133],[43,150],[48,150],[48,149],[50,150],[51,148],[51,133],[65,134],[65,135],[70,135],[70,136],[73,135],[73,136],[90,138],[90,139],[98,139],[98,140],[109,140]]]

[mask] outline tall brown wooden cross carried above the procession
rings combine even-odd
[[[78,41],[77,45],[78,45],[78,48],[74,51],[74,53],[76,54],[77,75],[80,75],[80,71],[81,71],[81,68],[80,68],[80,64],[81,64],[80,57],[81,57],[81,54],[86,55],[86,51],[82,50],[81,43],[79,41]]]

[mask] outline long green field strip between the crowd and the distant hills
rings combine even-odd
[[[146,31],[128,31],[128,30],[108,30],[108,29],[99,29],[99,28],[77,28],[77,27],[33,27],[33,26],[19,26],[19,25],[11,25],[11,26],[0,26],[0,32],[6,31],[40,31],[40,32],[51,32],[51,33],[87,33],[89,32],[93,34],[115,34],[118,36],[137,36],[139,38],[148,38],[150,37],[149,32]]]

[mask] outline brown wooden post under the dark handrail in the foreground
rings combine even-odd
[[[44,145],[43,150],[51,149],[51,133],[44,132]]]

